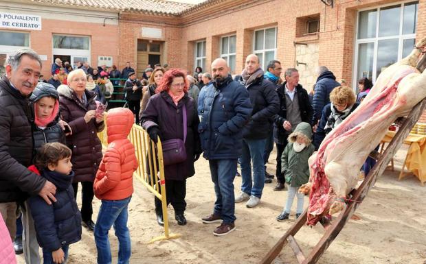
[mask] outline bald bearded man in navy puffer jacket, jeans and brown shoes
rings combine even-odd
[[[216,202],[212,215],[202,219],[210,224],[222,221],[213,235],[223,236],[235,229],[234,178],[237,159],[243,145],[242,130],[251,113],[249,93],[232,80],[227,62],[222,58],[212,63],[212,84],[199,94],[201,117],[199,132],[203,156],[209,160]]]

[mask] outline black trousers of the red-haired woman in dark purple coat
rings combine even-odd
[[[161,193],[161,191],[160,191]],[[175,214],[183,214],[186,209],[186,180],[166,180],[167,205],[172,204]],[[161,200],[155,197],[155,212],[161,213]]]

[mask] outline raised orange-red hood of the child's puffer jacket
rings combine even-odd
[[[127,139],[135,117],[133,112],[128,108],[113,108],[106,114],[106,134],[108,135],[108,143],[118,139]]]

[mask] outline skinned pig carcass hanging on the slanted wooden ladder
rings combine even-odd
[[[423,38],[417,47],[425,45]],[[321,217],[344,208],[344,198],[355,188],[359,169],[390,124],[426,97],[426,71],[419,73],[414,68],[422,54],[414,49],[385,69],[362,104],[328,133],[311,156],[307,224],[315,225]]]

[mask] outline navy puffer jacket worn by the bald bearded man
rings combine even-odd
[[[228,75],[222,84],[214,82],[201,90],[198,106],[204,158],[238,158],[243,147],[242,131],[251,114],[247,89]]]

